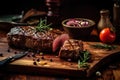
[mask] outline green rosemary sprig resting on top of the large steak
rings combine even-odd
[[[37,32],[45,32],[45,31],[51,29],[50,26],[51,26],[51,24],[47,24],[47,19],[43,19],[43,20],[40,19],[40,22],[36,26],[35,29]]]

